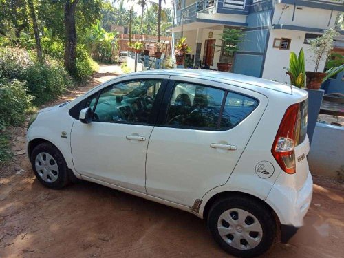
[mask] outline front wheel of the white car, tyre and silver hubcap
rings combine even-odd
[[[36,178],[50,189],[61,189],[69,183],[68,167],[53,144],[44,142],[37,145],[31,154],[30,162]]]

